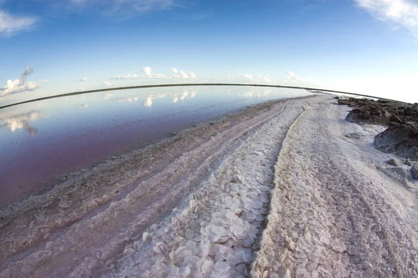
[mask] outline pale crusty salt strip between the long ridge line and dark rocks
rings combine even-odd
[[[342,139],[355,124],[328,101],[312,100],[284,140],[251,275],[417,277],[416,193],[365,163],[378,151]]]

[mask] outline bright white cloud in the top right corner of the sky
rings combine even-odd
[[[355,0],[373,17],[408,28],[418,37],[418,3],[411,0]]]

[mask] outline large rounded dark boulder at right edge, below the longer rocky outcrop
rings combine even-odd
[[[378,133],[374,139],[374,145],[381,152],[418,160],[417,130],[405,124],[391,126]]]

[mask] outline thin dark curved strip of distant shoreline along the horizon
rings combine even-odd
[[[298,87],[298,86],[265,85],[265,84],[236,84],[236,83],[180,83],[180,84],[134,85],[134,86],[127,86],[127,87],[102,88],[102,89],[86,90],[86,91],[79,91],[79,92],[68,92],[68,93],[60,94],[60,95],[54,95],[54,96],[49,96],[49,97],[39,97],[37,99],[20,101],[20,102],[16,102],[15,104],[8,104],[5,106],[0,106],[0,109],[17,106],[20,104],[29,104],[35,101],[55,99],[58,97],[69,97],[72,95],[83,95],[83,94],[89,94],[92,92],[107,92],[107,91],[114,91],[114,90],[130,90],[130,89],[142,89],[142,88],[185,87],[185,86],[250,86],[250,87],[267,87],[267,88],[288,88],[288,89],[300,89],[300,90],[318,91],[318,92],[336,92],[339,94],[354,95],[358,97],[371,97],[374,99],[386,99],[386,98],[376,97],[376,96],[371,96],[371,95],[356,94],[354,92],[343,92],[343,91],[337,91],[337,90],[325,90],[325,89]],[[394,99],[386,99],[386,100],[393,101]]]

